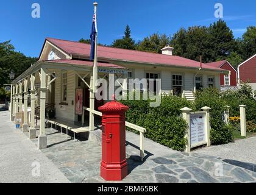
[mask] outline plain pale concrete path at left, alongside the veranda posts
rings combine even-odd
[[[69,182],[21,130],[15,129],[9,114],[0,112],[0,182]]]

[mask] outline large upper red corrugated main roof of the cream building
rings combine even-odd
[[[90,56],[91,45],[86,43],[79,43],[77,41],[59,40],[56,38],[46,38],[46,40],[55,44],[67,54]],[[98,46],[98,57],[110,60],[127,60],[130,62],[150,63],[156,65],[169,66],[184,66],[188,68],[199,68],[200,63],[194,60],[185,59],[176,55],[154,54],[151,52],[141,52],[128,49],[110,48],[106,46]],[[202,64],[204,69],[214,69],[216,71],[223,71],[223,69],[216,68]]]

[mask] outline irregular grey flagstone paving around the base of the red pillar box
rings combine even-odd
[[[38,133],[38,131],[37,131]],[[55,129],[46,129],[48,148],[41,151],[71,182],[105,182],[100,177],[101,146],[92,141],[73,140]],[[28,133],[26,133],[28,136]],[[32,140],[37,144],[37,139]],[[156,143],[155,143],[156,144]],[[169,151],[169,152],[168,152]],[[169,154],[168,154],[169,153]],[[122,182],[256,182],[256,172],[224,163],[222,158],[204,154],[175,152],[166,147],[163,154],[152,154],[141,163],[127,159],[129,175]],[[218,166],[223,176],[218,176]],[[217,170],[217,171],[216,171]]]

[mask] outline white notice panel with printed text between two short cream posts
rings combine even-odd
[[[205,114],[194,114],[190,116],[190,141],[191,147],[205,140]]]

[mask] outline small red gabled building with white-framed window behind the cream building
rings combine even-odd
[[[237,86],[237,72],[235,68],[227,60],[222,60],[218,62],[207,63],[209,66],[215,68],[226,69],[230,71],[230,74],[221,74],[220,83],[221,86]]]

